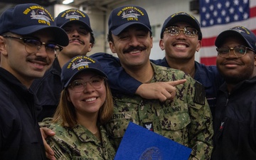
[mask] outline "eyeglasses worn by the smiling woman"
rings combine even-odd
[[[87,82],[85,82],[84,80],[73,80],[73,82],[70,82],[68,87],[70,87],[70,89],[74,92],[83,92],[85,90],[85,86],[87,85],[87,83],[89,83],[93,88],[99,89],[100,87],[102,87],[105,79],[106,78],[102,76],[94,76],[90,78],[90,80]]]

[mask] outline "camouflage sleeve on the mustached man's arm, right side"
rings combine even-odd
[[[190,159],[210,159],[213,151],[213,118],[201,83],[189,78],[188,112],[191,125],[188,128]]]

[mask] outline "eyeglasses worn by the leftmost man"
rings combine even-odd
[[[44,43],[39,40],[33,39],[33,38],[23,38],[23,37],[13,37],[13,36],[3,36],[4,38],[14,38],[17,40],[23,41],[25,43],[25,50],[27,53],[38,53],[42,45],[46,46],[46,53],[54,54],[55,51],[61,51],[63,48],[61,46],[58,46],[55,43]]]

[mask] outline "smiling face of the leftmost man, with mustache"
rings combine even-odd
[[[9,36],[22,37],[13,33],[9,33]],[[43,43],[54,42],[50,33],[43,31],[24,37],[34,38]],[[8,70],[27,87],[31,85],[35,78],[43,77],[55,57],[55,53],[46,52],[45,45],[42,45],[36,53],[28,53],[25,43],[16,38],[4,38],[1,36],[0,49],[2,54],[1,67]]]

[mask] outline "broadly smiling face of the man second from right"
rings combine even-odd
[[[171,26],[177,26],[181,29],[191,27],[188,23],[178,22]],[[201,41],[196,37],[185,36],[181,31],[178,36],[171,36],[169,33],[164,32],[164,37],[160,40],[159,46],[161,50],[166,51],[167,59],[188,59],[194,60],[196,51],[201,47]]]

